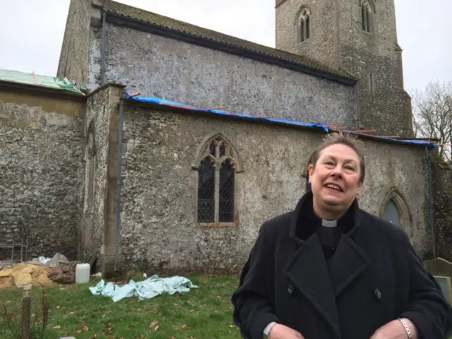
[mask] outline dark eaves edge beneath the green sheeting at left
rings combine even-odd
[[[0,80],[0,91],[32,93],[36,95],[45,95],[47,97],[59,97],[62,99],[85,102],[88,96],[72,93],[62,88],[54,88],[44,85],[35,85],[30,83],[19,83],[17,81]]]

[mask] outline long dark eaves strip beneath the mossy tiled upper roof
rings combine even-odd
[[[274,64],[284,67],[285,69],[292,69],[292,71],[299,71],[300,73],[306,73],[311,76],[317,76],[319,78],[327,79],[329,81],[335,81],[336,83],[341,83],[343,85],[353,86],[356,85],[358,81],[357,79],[349,78],[347,76],[340,76],[329,71],[323,71],[321,69],[316,69],[314,67],[299,64],[287,59],[273,57],[262,52],[246,49],[244,47],[211,40],[206,37],[198,37],[196,35],[191,35],[180,30],[166,28],[154,23],[148,23],[143,20],[130,18],[129,16],[123,16],[121,14],[114,13],[113,11],[106,10],[105,13],[107,14],[106,19],[108,23],[114,23],[115,25],[123,26],[126,28],[141,30],[143,32],[149,32],[155,35],[162,35],[175,40],[189,42],[191,44],[198,44],[203,47],[210,47],[222,52],[236,54],[247,59],[254,59],[256,61],[265,62],[266,64]]]

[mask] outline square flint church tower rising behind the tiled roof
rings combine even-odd
[[[276,48],[358,78],[361,129],[412,136],[394,0],[276,0]]]

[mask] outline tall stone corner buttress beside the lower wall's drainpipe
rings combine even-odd
[[[121,85],[102,86],[90,93],[86,103],[80,258],[97,260],[93,270],[103,276],[112,275],[114,263],[119,102],[123,89]],[[91,170],[90,161],[94,164]]]

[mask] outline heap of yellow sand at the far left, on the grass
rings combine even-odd
[[[52,280],[47,278],[48,268],[32,263],[19,263],[13,268],[0,270],[0,288],[23,287],[31,282],[32,285],[52,286]],[[17,285],[15,285],[15,282]]]

